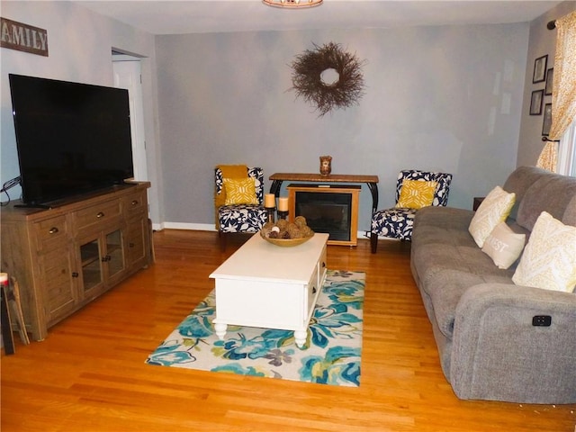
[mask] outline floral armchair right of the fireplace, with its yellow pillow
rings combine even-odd
[[[410,182],[406,182],[406,181]],[[429,187],[429,197],[422,198],[418,188],[410,191],[413,195],[413,204],[405,205],[401,202],[402,186],[405,184],[419,184]],[[396,183],[396,206],[392,209],[375,211],[372,216],[370,244],[372,253],[376,253],[378,237],[398,238],[410,241],[412,238],[412,225],[414,216],[419,208],[429,205],[446,206],[452,175],[419,170],[402,170]],[[404,191],[406,192],[406,191]],[[423,192],[421,195],[426,195]],[[410,199],[408,200],[410,202]],[[406,202],[406,201],[405,201]]]

